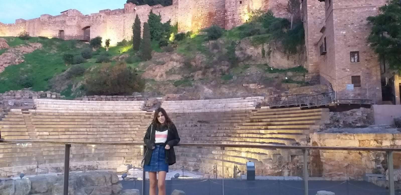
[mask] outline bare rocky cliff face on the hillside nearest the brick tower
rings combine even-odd
[[[270,67],[286,69],[301,66],[306,60],[304,51],[287,54],[277,43],[253,45],[251,42],[252,37],[242,39],[235,48],[235,55],[244,64],[268,64]]]

